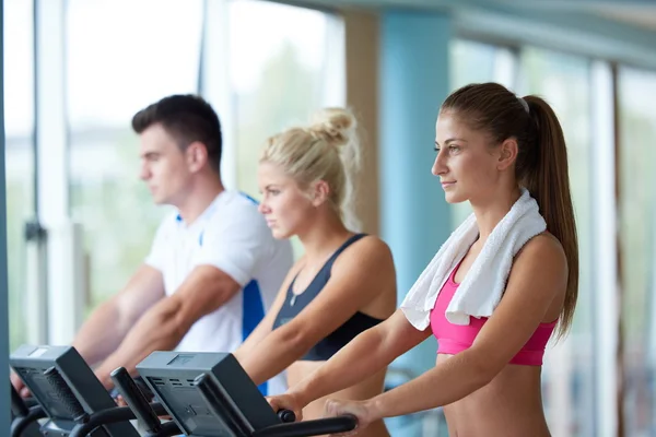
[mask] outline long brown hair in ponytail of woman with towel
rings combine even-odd
[[[559,239],[567,258],[567,290],[559,322],[561,336],[572,324],[578,295],[578,238],[567,150],[563,130],[549,104],[535,95],[523,101],[497,83],[470,84],[452,93],[441,110],[457,114],[472,129],[489,132],[494,144],[508,138],[517,140],[515,177],[538,202],[547,229]]]

